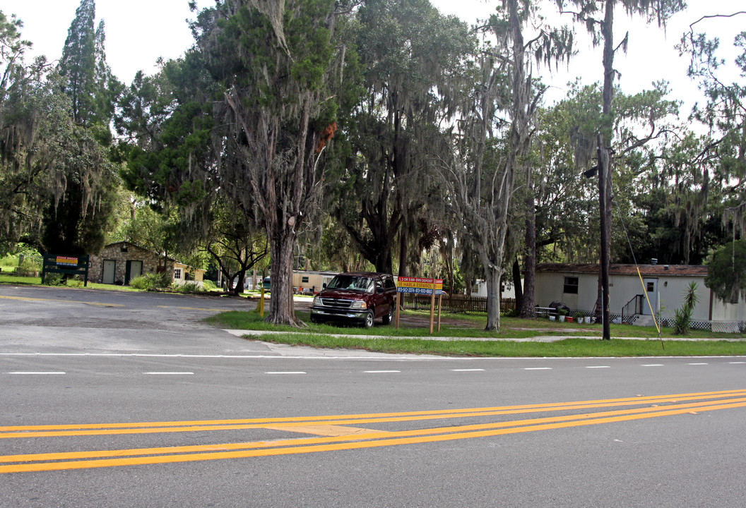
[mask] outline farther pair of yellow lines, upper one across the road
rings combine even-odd
[[[653,403],[672,403],[698,399],[718,399],[732,396],[746,396],[746,390],[728,390],[727,392],[706,392],[699,394],[680,394],[674,396],[648,396],[639,398],[607,399],[586,402],[562,402],[559,404],[527,404],[523,406],[489,407],[481,409],[459,409],[442,411],[418,411],[410,413],[373,413],[365,415],[315,416],[311,418],[275,418],[245,420],[205,420],[194,422],[143,422],[130,424],[85,424],[85,425],[24,425],[0,427],[0,439],[51,437],[51,436],[101,436],[114,434],[155,434],[195,431],[236,431],[250,428],[267,428],[268,425],[292,426],[308,425],[360,425],[369,423],[391,423],[425,421],[433,419],[466,418],[474,416],[497,416],[520,413],[539,413],[545,411],[582,410],[597,407],[615,407]],[[404,415],[404,416],[400,416]],[[234,423],[252,422],[252,423]],[[198,424],[198,425],[195,425]],[[161,427],[160,425],[171,425]],[[181,426],[184,425],[184,426]],[[49,429],[49,430],[46,430]],[[60,429],[60,430],[53,430]],[[67,430],[70,429],[70,430]],[[78,429],[78,430],[72,430]]]

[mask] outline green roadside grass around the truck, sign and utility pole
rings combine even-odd
[[[308,320],[307,312],[296,313],[301,320]],[[426,317],[427,314],[407,311],[404,319]],[[430,340],[429,327],[417,325],[374,326],[369,330],[356,327],[310,324],[307,328],[272,326],[264,323],[256,311],[231,311],[208,317],[205,321],[221,328],[250,329],[259,331],[286,331],[287,334],[263,334],[252,338],[266,342],[313,346],[330,349],[364,349],[375,352],[415,353],[422,355],[485,356],[485,357],[633,357],[633,356],[733,356],[746,355],[746,337],[743,334],[720,334],[694,331],[689,337],[708,340],[657,340],[655,328],[645,326],[612,325],[612,340],[599,340],[600,325],[577,325],[548,320],[521,320],[504,318],[501,330],[488,332],[482,329],[484,316],[448,316],[458,323],[445,324],[433,337],[449,340]],[[344,337],[335,337],[344,334]],[[377,336],[377,337],[363,337]],[[527,339],[537,336],[567,336],[574,338],[554,343],[518,342],[510,339]],[[671,328],[663,328],[663,337],[672,337]],[[469,340],[474,337],[500,340]],[[580,338],[576,338],[580,337]],[[583,338],[587,337],[587,338]],[[625,340],[617,337],[642,337],[642,340]],[[686,337],[682,337],[686,338]],[[718,340],[721,339],[721,340]],[[734,342],[735,340],[735,342]]]

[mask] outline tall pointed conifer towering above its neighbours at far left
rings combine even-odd
[[[104,53],[104,22],[94,29],[95,1],[75,11],[58,66],[69,97],[72,125],[59,146],[66,156],[54,162],[57,188],[43,219],[42,243],[54,253],[95,252],[113,214],[116,171],[107,155],[109,123],[119,84]]]

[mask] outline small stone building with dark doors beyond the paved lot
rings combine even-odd
[[[164,266],[165,262],[165,266]],[[179,263],[174,258],[144,249],[128,241],[108,244],[97,255],[90,257],[88,278],[102,284],[129,284],[131,279],[145,273],[169,271],[175,282],[198,282],[201,285],[204,270]]]

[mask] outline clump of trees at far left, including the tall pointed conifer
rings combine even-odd
[[[80,255],[103,245],[116,188],[109,161],[110,90],[103,27],[93,29],[84,0],[54,72],[45,60],[23,62],[19,22],[0,19],[0,244]],[[97,56],[98,55],[98,56]]]

